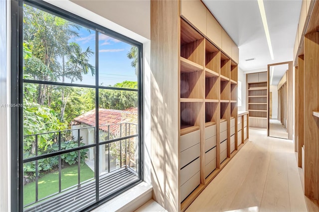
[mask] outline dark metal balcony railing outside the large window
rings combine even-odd
[[[32,135],[25,135],[24,142],[32,143],[32,149],[29,148],[28,151],[25,151],[25,157],[23,159],[23,165],[28,165],[30,163],[34,164],[35,167],[35,201],[32,203],[24,204],[24,208],[36,206],[37,203],[52,198],[53,196],[57,196],[62,192],[75,189],[78,190],[82,185],[86,185],[89,181],[92,181],[94,178],[89,179],[87,181],[81,182],[81,161],[84,159],[83,151],[87,150],[86,156],[89,155],[88,160],[86,162],[91,161],[93,158],[93,163],[91,163],[91,169],[94,172],[95,179],[99,176],[99,179],[102,179],[104,176],[107,176],[108,173],[114,172],[120,169],[130,169],[133,173],[137,173],[136,168],[136,152],[139,151],[137,149],[137,145],[134,144],[134,139],[136,139],[139,135],[137,132],[137,125],[132,123],[119,123],[119,124],[111,124],[111,125],[100,125],[99,126],[99,139],[96,139],[96,127],[80,127],[76,125],[74,129],[68,129],[63,131],[54,131],[54,132],[46,132],[46,133],[38,133]],[[89,134],[90,133],[90,134]],[[86,138],[83,138],[83,135],[87,135]],[[93,140],[89,140],[91,138]],[[39,141],[45,139],[47,141],[48,146],[46,148],[39,148]],[[99,141],[96,144],[96,141]],[[72,145],[70,145],[72,144]],[[50,147],[50,148],[48,148]],[[95,158],[95,149],[94,147],[99,147],[99,159]],[[113,150],[112,150],[113,147]],[[102,150],[106,151],[102,151]],[[93,152],[92,152],[93,151]],[[61,188],[61,171],[62,171],[62,163],[63,157],[70,153],[77,152],[77,158],[74,160],[77,161],[77,184],[67,188]],[[104,155],[103,155],[104,154]],[[105,161],[99,161],[96,163],[96,160],[101,160],[101,156],[105,157],[107,161],[107,168]],[[51,157],[57,157],[58,164],[54,169],[58,171],[58,192],[55,192],[49,196],[44,198],[39,198],[38,195],[38,183],[39,183],[39,161],[42,159],[48,159]],[[102,157],[102,158],[103,158]],[[91,160],[90,160],[91,159]],[[113,162],[113,166],[112,163]],[[65,163],[65,161],[64,161]],[[99,173],[95,172],[96,165],[99,164],[101,167],[105,163],[104,168],[99,169]],[[76,164],[74,162],[74,164]],[[92,166],[93,164],[93,166]]]

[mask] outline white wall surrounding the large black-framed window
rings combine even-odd
[[[151,182],[150,173],[150,54],[151,54],[151,3],[150,0],[45,0],[57,7],[70,11],[76,15],[86,18],[92,22],[98,23],[104,27],[112,29],[127,37],[135,39],[144,45],[144,137],[145,137],[145,170],[144,180]],[[5,12],[2,7],[7,2],[6,22],[7,26],[2,21],[5,21]],[[10,98],[10,1],[0,0],[0,103],[9,104]],[[81,5],[81,6],[80,6]],[[83,7],[82,7],[83,6]],[[2,30],[6,30],[7,37],[2,35]],[[3,46],[7,38],[7,48]],[[4,52],[3,52],[4,51]],[[5,53],[6,52],[6,53]],[[5,55],[7,55],[5,57]],[[6,63],[5,63],[6,61]],[[6,71],[7,70],[7,71]],[[10,211],[10,110],[9,108],[0,107],[0,212]],[[6,141],[6,142],[5,142]],[[4,174],[5,173],[5,174]]]

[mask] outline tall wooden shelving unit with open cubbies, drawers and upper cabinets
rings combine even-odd
[[[237,153],[238,47],[200,0],[151,1],[151,10],[152,80],[158,86],[152,98],[160,104],[152,110],[153,124],[159,123],[153,172],[166,182],[152,182],[153,198],[179,212]]]

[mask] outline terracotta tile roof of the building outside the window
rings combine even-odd
[[[99,128],[103,131],[108,131],[108,126],[111,124],[120,123],[132,123],[137,124],[138,122],[138,110],[137,108],[128,108],[126,110],[112,110],[99,108]],[[71,122],[71,125],[86,124],[95,127],[95,109],[90,110],[76,118]],[[116,127],[116,126],[114,126]],[[119,125],[117,125],[117,128]]]

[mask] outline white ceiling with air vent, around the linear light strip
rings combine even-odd
[[[302,0],[264,0],[274,60],[257,0],[202,1],[238,45],[239,67],[243,71],[265,71],[267,64],[293,60]],[[249,58],[256,60],[245,61]]]

